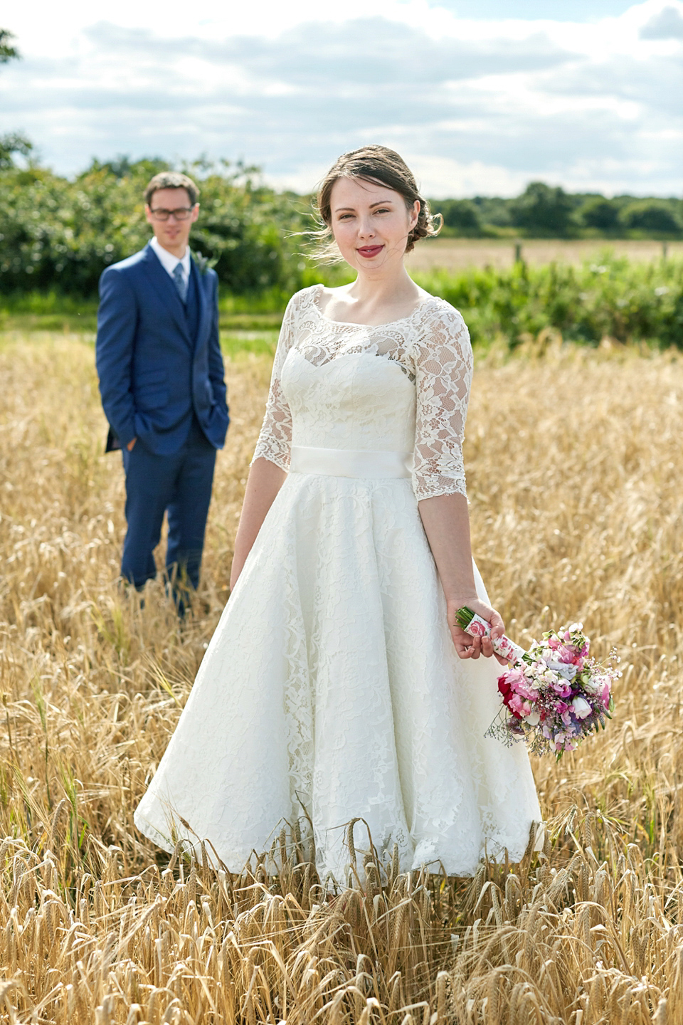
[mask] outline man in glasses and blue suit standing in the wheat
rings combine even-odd
[[[189,232],[199,190],[164,171],[147,186],[154,238],[99,281],[96,364],[106,451],[121,448],[126,521],[121,575],[141,589],[168,512],[166,570],[179,611],[199,583],[216,449],[228,415],[218,344],[218,279],[198,265]]]

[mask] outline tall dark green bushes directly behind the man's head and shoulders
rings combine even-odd
[[[102,270],[151,237],[142,193],[163,161],[94,162],[74,181],[42,168],[0,171],[0,289],[96,294]],[[201,212],[196,249],[215,261],[236,293],[293,291],[305,261],[296,255],[303,206],[255,181],[253,169],[196,164]]]

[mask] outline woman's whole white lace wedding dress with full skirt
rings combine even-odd
[[[471,874],[521,857],[541,814],[523,745],[484,737],[500,666],[456,655],[418,512],[465,493],[467,328],[431,297],[391,324],[333,322],[319,289],[287,309],[254,456],[288,477],[135,822],[166,850],[207,838],[238,871],[305,808],[324,875],[345,878],[356,817],[403,870]]]

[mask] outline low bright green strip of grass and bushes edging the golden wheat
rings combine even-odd
[[[316,281],[340,284],[352,278],[343,266],[305,268],[296,287]],[[506,271],[470,268],[460,274],[415,275],[418,284],[457,306],[475,345],[495,338],[514,348],[553,328],[567,341],[597,345],[607,336],[621,342],[683,348],[683,260],[631,263],[607,252],[599,263],[566,263]],[[227,332],[275,330],[293,289],[272,286],[258,292],[221,293],[221,328]],[[94,329],[96,300],[58,292],[14,293],[5,298],[4,326],[26,329],[68,325]],[[230,344],[239,347],[240,336]],[[272,338],[268,336],[268,344]]]

